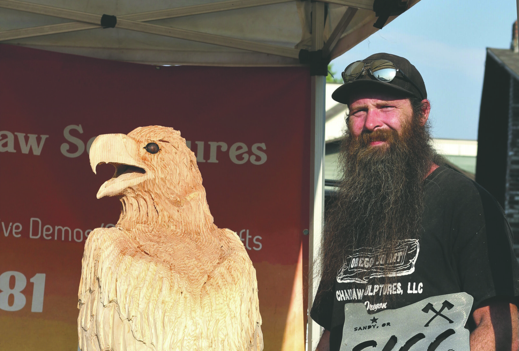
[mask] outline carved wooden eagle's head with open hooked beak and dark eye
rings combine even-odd
[[[95,173],[104,163],[115,173],[97,197],[121,198],[118,226],[173,222],[182,227],[186,215],[212,224],[196,157],[179,131],[149,126],[127,135],[102,134],[90,147],[90,166]]]

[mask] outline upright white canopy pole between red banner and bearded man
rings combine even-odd
[[[320,50],[324,45],[324,6],[322,2],[312,3],[312,50]],[[321,337],[321,326],[310,318],[313,299],[319,286],[319,248],[324,223],[324,92],[326,76],[311,78],[310,108],[310,235],[308,245],[308,323],[307,351],[316,349]]]

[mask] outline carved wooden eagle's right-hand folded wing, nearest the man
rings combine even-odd
[[[263,350],[262,319],[256,270],[236,233],[226,230],[233,251],[218,264],[202,288],[202,301],[210,301],[212,333],[218,350]],[[209,299],[204,299],[208,294]],[[216,335],[215,335],[216,336]]]

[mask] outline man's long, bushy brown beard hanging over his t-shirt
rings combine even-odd
[[[355,250],[380,248],[378,254],[392,257],[399,241],[419,237],[424,179],[435,159],[420,117],[414,115],[400,135],[384,129],[354,138],[346,132],[338,160],[344,176],[327,213],[321,246],[321,291],[333,289],[339,269]],[[373,141],[387,143],[370,146]],[[376,279],[391,283],[395,278]]]

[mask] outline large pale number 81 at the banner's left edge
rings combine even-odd
[[[15,286],[11,289],[9,280],[15,277]],[[31,312],[43,311],[43,294],[45,291],[45,274],[37,273],[32,277],[30,282],[33,283]],[[0,274],[0,309],[6,311],[17,311],[25,306],[25,295],[22,290],[27,285],[27,278],[23,273],[16,271],[8,271]],[[9,305],[9,296],[13,296],[12,305]]]

